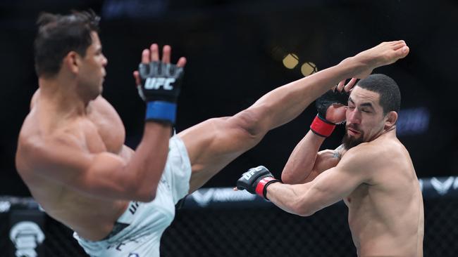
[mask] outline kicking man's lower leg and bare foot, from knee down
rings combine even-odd
[[[381,65],[388,65],[409,53],[404,41],[383,42],[351,58],[342,60],[338,65],[292,81],[276,88],[252,105],[253,110],[261,108],[266,112],[259,123],[259,129],[274,129],[299,115],[309,103],[323,95],[333,85],[348,78],[362,79]],[[266,109],[266,110],[264,110]]]

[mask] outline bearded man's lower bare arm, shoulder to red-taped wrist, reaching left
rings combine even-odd
[[[347,197],[362,183],[370,183],[373,169],[367,169],[367,166],[371,155],[361,150],[349,151],[337,166],[323,171],[309,183],[269,185],[267,197],[287,212],[310,216]]]

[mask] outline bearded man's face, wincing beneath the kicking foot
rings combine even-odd
[[[343,143],[347,149],[369,142],[383,131],[385,115],[378,93],[355,86],[348,98],[347,124]]]

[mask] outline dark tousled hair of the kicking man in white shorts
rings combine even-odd
[[[35,38],[35,72],[52,77],[61,69],[70,51],[82,57],[92,44],[91,32],[99,32],[99,16],[94,11],[72,11],[69,15],[41,13]]]

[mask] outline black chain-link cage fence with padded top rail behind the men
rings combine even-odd
[[[424,256],[458,256],[458,177],[419,183]],[[33,199],[0,197],[0,256],[87,256],[72,234]],[[343,202],[301,217],[248,192],[212,187],[182,201],[162,237],[161,256],[356,256],[356,251]]]

